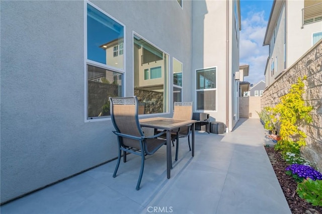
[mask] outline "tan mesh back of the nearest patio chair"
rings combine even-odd
[[[137,97],[110,97],[111,119],[117,132],[136,137],[144,136],[138,119]],[[122,146],[140,149],[139,141],[121,138]]]

